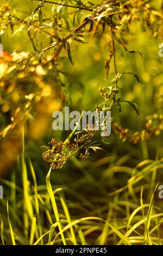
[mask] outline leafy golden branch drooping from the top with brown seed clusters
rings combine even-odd
[[[143,26],[153,31],[153,27],[158,25],[158,19],[162,19],[162,14],[153,8],[152,3],[149,3],[149,1],[148,3],[143,3],[143,1],[114,0],[102,1],[99,4],[87,2],[90,5],[90,7],[87,7],[82,1],[74,1],[73,5],[72,1],[70,1],[71,4],[67,4],[68,1],[61,3],[48,0],[35,1],[39,2],[39,4],[32,11],[32,14],[23,18],[22,15],[21,17],[19,16],[19,11],[11,9],[9,4],[4,4],[0,8],[1,40],[3,40],[3,35],[5,33],[7,34],[8,30],[15,35],[16,33],[22,32],[22,29],[28,29],[28,36],[30,41],[32,41],[35,51],[35,53],[32,51],[27,53],[26,51],[16,50],[12,54],[5,53],[4,57],[0,59],[2,64],[1,84],[3,84],[0,96],[2,107],[7,111],[4,111],[2,115],[3,120],[8,120],[8,115],[12,120],[9,124],[5,121],[2,132],[0,133],[1,138],[5,137],[8,132],[16,129],[18,123],[21,123],[24,119],[32,119],[35,106],[39,105],[43,99],[45,99],[43,103],[47,102],[47,97],[44,95],[44,89],[47,84],[52,95],[58,95],[61,98],[61,106],[65,104],[67,100],[63,93],[65,84],[63,86],[60,73],[64,76],[67,74],[65,74],[61,66],[62,62],[60,61],[65,56],[64,54],[60,56],[60,53],[65,49],[67,51],[67,57],[74,64],[70,39],[83,43],[88,35],[91,35],[91,38],[94,37],[97,40],[101,40],[101,38],[108,40],[109,37],[109,57],[105,61],[106,78],[110,75],[110,64],[114,66],[114,78],[111,80],[111,85],[108,84],[108,86],[99,89],[103,100],[101,104],[96,105],[97,110],[110,111],[113,106],[117,106],[121,112],[121,103],[126,102],[140,116],[135,102],[124,100],[123,97],[119,96],[119,81],[122,76],[127,74],[133,75],[137,82],[143,82],[136,74],[117,70],[116,50],[118,44],[120,44],[125,51],[131,54],[139,53],[142,58],[142,54],[139,51],[128,49],[124,34],[131,33],[130,24],[135,21],[139,21]],[[48,16],[48,19],[44,17],[43,13],[45,3],[53,4],[52,16]],[[75,10],[68,13],[69,8]],[[87,11],[90,12],[89,16],[86,16]],[[150,19],[150,15],[152,15],[152,19]],[[108,28],[107,31],[106,27]],[[159,29],[157,33],[159,33]],[[112,59],[113,63],[111,62]],[[11,89],[9,95],[5,93],[5,89],[8,87]],[[19,97],[20,94],[21,97]],[[17,102],[13,100],[14,95],[18,95],[19,100]],[[8,106],[6,106],[6,102],[8,102]],[[14,111],[10,113],[11,108]],[[115,132],[119,133],[122,139],[126,139],[127,137],[130,142],[134,142],[131,139],[132,136],[128,134],[126,129],[123,129],[115,122],[112,125],[114,126]],[[159,133],[161,130],[161,128],[159,131],[156,130],[156,127],[154,127],[155,130],[150,129],[147,132],[150,136]],[[44,153],[44,159],[51,164],[53,163],[53,167],[57,167],[59,164],[58,167],[60,168],[69,157],[78,153],[79,150],[85,150],[85,153],[82,153],[83,158],[88,156],[89,150],[91,148],[96,150],[98,145],[93,144],[92,137],[89,137],[87,133],[88,131],[85,131],[84,134],[79,133],[81,137],[88,136],[86,141],[83,141],[83,144],[78,143],[81,139],[78,135],[74,144],[72,143],[70,145],[67,143],[66,147],[71,147],[68,153],[65,151],[64,143],[59,144],[59,142],[55,141],[58,147],[60,145],[60,152],[57,153],[58,149],[54,147],[55,143],[53,141],[51,143],[52,148],[48,148],[46,153]],[[136,135],[134,136],[135,141],[140,141],[142,138],[142,135],[139,135],[139,139]],[[57,154],[60,154],[60,156]],[[59,159],[61,159],[60,163]]]

